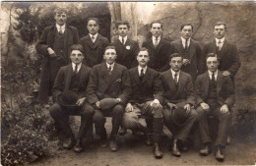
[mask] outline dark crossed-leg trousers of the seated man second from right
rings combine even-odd
[[[186,110],[183,109],[185,102],[177,103],[176,106],[179,109],[172,109],[169,108],[163,109],[163,122],[164,125],[168,128],[168,130],[173,135],[173,138],[180,139],[184,141],[194,123],[197,121],[198,113],[195,109],[191,108],[189,114],[186,114]],[[178,113],[175,111],[183,111],[182,113]]]

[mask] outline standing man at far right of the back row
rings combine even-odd
[[[215,39],[207,42],[203,47],[203,54],[217,54],[219,67],[218,69],[224,76],[229,76],[234,84],[234,76],[241,66],[238,51],[235,44],[225,39],[226,25],[224,22],[218,22],[214,26]]]

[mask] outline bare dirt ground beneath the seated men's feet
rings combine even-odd
[[[253,114],[255,116],[255,114]],[[106,129],[110,132],[111,123],[107,118]],[[255,123],[253,123],[255,124]],[[240,126],[241,127],[241,126]],[[243,130],[247,128],[247,130]],[[133,136],[131,131],[125,136],[119,137],[119,149],[111,152],[109,148],[101,148],[97,144],[85,149],[80,154],[73,150],[55,150],[55,155],[45,158],[40,162],[33,163],[33,166],[136,166],[136,165],[254,165],[256,164],[256,128],[243,125],[236,128],[231,144],[227,145],[224,153],[224,162],[218,162],[214,153],[209,156],[200,156],[197,147],[191,147],[188,151],[182,152],[181,157],[174,157],[167,148],[167,139],[161,142],[164,153],[162,159],[155,159],[153,147],[147,146],[143,136]],[[239,132],[242,131],[242,132]],[[166,129],[164,132],[169,136]],[[54,144],[55,142],[53,142]],[[56,143],[55,143],[56,144]],[[54,146],[54,145],[53,145]]]

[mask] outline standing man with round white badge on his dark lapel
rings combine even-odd
[[[116,62],[125,66],[127,69],[131,69],[136,66],[136,56],[139,52],[139,43],[128,37],[128,31],[130,25],[127,21],[120,21],[116,23],[118,31],[118,39],[116,39],[112,45],[116,48]]]

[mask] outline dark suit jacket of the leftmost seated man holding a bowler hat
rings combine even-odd
[[[92,69],[83,65],[79,71],[80,81],[78,87],[78,96],[79,98],[87,97],[86,89],[89,83],[89,78]],[[71,78],[74,75],[72,65],[61,67],[53,85],[53,96],[56,98],[63,91],[69,90],[70,83],[72,82]]]

